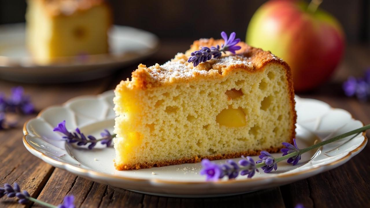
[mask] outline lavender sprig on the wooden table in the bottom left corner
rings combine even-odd
[[[5,195],[9,198],[13,198],[13,197],[18,198],[19,204],[27,204],[28,202],[33,201],[35,203],[41,204],[49,208],[75,208],[75,205],[73,204],[73,201],[74,201],[73,195],[65,196],[63,199],[63,204],[54,206],[47,202],[40,201],[38,199],[31,197],[28,191],[26,190],[21,191],[17,182],[14,182],[13,187],[10,184],[4,184],[4,187],[0,187],[0,198],[2,198]]]

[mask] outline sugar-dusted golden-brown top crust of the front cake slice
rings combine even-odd
[[[181,67],[181,70],[176,71],[176,73],[183,73],[186,71],[187,76],[180,74],[179,76],[171,77],[174,75],[174,73],[169,73],[169,71],[175,71],[174,68],[176,68],[176,66],[173,67],[168,63],[166,63],[167,65],[164,64],[162,66],[156,64],[152,67],[146,67],[145,65],[140,64],[138,69],[132,72],[132,81],[123,81],[117,86],[117,88],[120,88],[122,85],[124,85],[127,88],[139,88],[145,90],[152,87],[188,82],[190,80],[198,79],[201,76],[222,78],[229,72],[235,70],[246,70],[249,73],[256,73],[263,70],[263,68],[269,63],[277,63],[287,66],[285,61],[274,56],[270,51],[263,51],[260,48],[250,47],[244,42],[238,43],[241,49],[236,51],[236,54],[227,52],[226,54],[223,54],[221,58],[211,59],[205,63],[199,64],[197,67],[193,67],[192,63],[187,63],[187,59],[190,57],[190,53],[192,51],[199,50],[199,48],[205,46],[211,47],[215,45],[221,45],[222,43],[223,40],[214,40],[213,38],[196,40],[191,45],[191,48],[185,52],[185,54],[176,55],[176,57],[169,63],[177,63],[177,67]],[[223,58],[228,57],[235,59],[234,63],[229,64],[227,61],[223,60]],[[205,73],[211,69],[217,70],[218,73]],[[286,67],[286,70],[288,70],[290,73],[289,66]],[[291,78],[291,75],[289,75],[288,78]]]

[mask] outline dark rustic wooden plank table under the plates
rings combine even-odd
[[[185,51],[190,41],[162,41],[161,53],[142,61],[148,66],[164,63],[177,51]],[[180,42],[180,44],[179,44]],[[184,44],[182,44],[184,43]],[[301,97],[316,98],[333,107],[349,111],[354,118],[370,123],[369,103],[359,103],[343,95],[341,83],[350,74],[361,76],[370,67],[370,50],[364,46],[349,46],[346,56],[332,80]],[[8,93],[11,87],[22,85],[31,95],[39,111],[54,104],[62,104],[70,98],[85,94],[100,94],[114,89],[120,80],[130,76],[138,63],[122,68],[112,76],[100,80],[74,84],[22,84],[0,81],[0,91]],[[19,118],[19,125],[0,131],[0,184],[17,181],[32,197],[60,204],[67,194],[75,195],[77,207],[294,207],[298,203],[306,207],[368,207],[370,204],[370,147],[346,164],[305,180],[281,187],[248,194],[219,198],[167,198],[139,194],[121,188],[85,180],[67,171],[54,168],[31,155],[22,143],[23,123],[36,116]],[[369,134],[367,134],[369,137]],[[0,207],[24,207],[14,199],[0,199]],[[26,207],[40,207],[27,205]]]

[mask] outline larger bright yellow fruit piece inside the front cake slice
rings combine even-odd
[[[246,124],[245,113],[240,107],[234,109],[230,106],[216,116],[216,122],[227,127],[242,127]]]

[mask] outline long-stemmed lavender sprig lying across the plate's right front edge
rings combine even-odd
[[[228,175],[229,179],[235,178],[239,173],[240,175],[248,174],[248,178],[251,178],[253,177],[256,171],[258,172],[257,168],[261,168],[263,172],[269,173],[273,169],[277,170],[277,163],[283,160],[287,160],[288,163],[293,162],[292,164],[296,165],[298,164],[298,161],[300,160],[301,155],[303,153],[308,152],[318,147],[322,147],[323,145],[340,140],[350,135],[360,134],[361,132],[366,131],[368,129],[370,129],[370,124],[363,126],[361,128],[346,132],[344,134],[338,135],[336,137],[330,138],[329,140],[319,142],[317,144],[314,144],[304,149],[299,149],[297,147],[295,139],[293,140],[294,146],[287,142],[283,142],[282,144],[286,148],[283,148],[281,150],[283,152],[282,157],[274,158],[269,152],[261,151],[260,152],[261,154],[259,155],[259,158],[261,160],[256,161],[256,164],[254,164],[254,161],[252,158],[250,157],[245,158],[243,156],[242,156],[243,159],[238,162],[239,165],[236,164],[235,162],[231,162],[232,160],[229,160],[225,164],[218,165],[207,159],[203,159],[201,162],[202,170],[200,171],[200,174],[206,175],[206,180],[213,180],[213,181],[219,180],[226,175]]]

